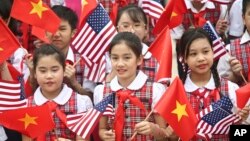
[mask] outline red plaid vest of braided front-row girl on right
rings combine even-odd
[[[228,96],[228,81],[226,79],[221,79],[221,86],[220,86],[220,95],[223,96]],[[196,96],[194,96],[191,93],[187,93],[187,97],[189,102],[191,103],[193,109],[197,109],[197,107],[199,107],[198,109],[202,110],[202,107],[200,106],[200,100],[197,99]],[[211,97],[207,97],[209,99],[209,102],[212,103],[213,99],[211,99]],[[206,108],[206,107],[205,107]],[[194,141],[197,140],[197,138],[193,139]],[[211,141],[229,141],[229,135],[213,135],[213,137],[211,138]]]

